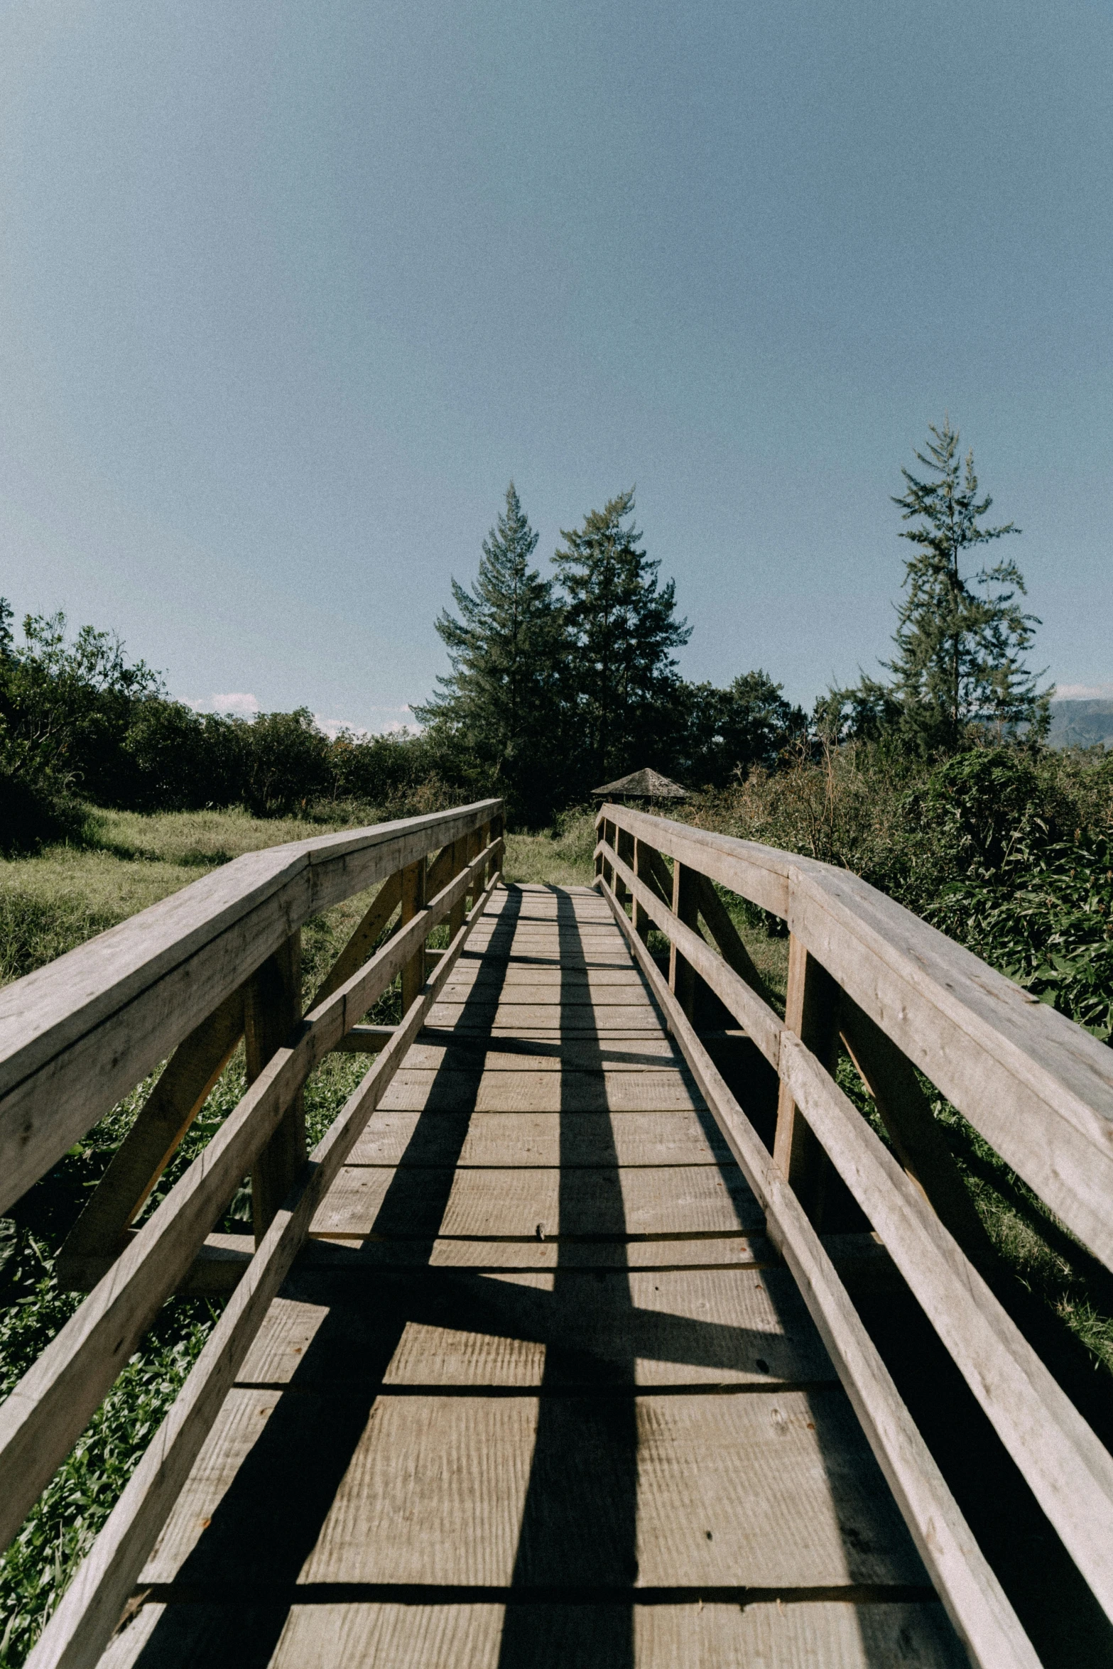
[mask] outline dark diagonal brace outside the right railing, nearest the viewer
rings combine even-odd
[[[983,1273],[991,1270],[998,1262],[993,1243],[913,1063],[846,991],[839,996],[839,1031],[901,1165],[971,1263]]]

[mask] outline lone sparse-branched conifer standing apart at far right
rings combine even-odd
[[[1040,624],[1018,598],[1025,579],[1013,561],[964,571],[966,554],[1020,527],[986,527],[993,499],[978,497],[975,454],[959,462],[958,431],[949,419],[929,429],[929,472],[921,481],[901,469],[906,491],[893,502],[914,527],[901,532],[916,547],[906,561],[906,596],[893,638],[896,654],[884,666],[894,676],[901,728],[923,748],[953,751],[971,726],[1015,733],[1020,724],[1046,726],[1048,693],[1025,664]]]

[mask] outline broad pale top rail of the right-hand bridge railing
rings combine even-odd
[[[788,920],[809,955],[1113,1268],[1113,1050],[848,870],[606,804]]]

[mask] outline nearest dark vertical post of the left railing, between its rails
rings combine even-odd
[[[244,1051],[247,1082],[254,1083],[302,1018],[302,935],[292,933],[247,983]],[[305,1102],[299,1090],[255,1160],[252,1170],[252,1228],[255,1245],[305,1163]]]

